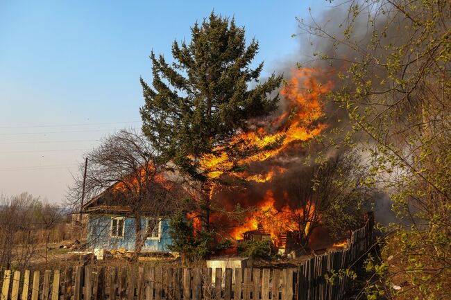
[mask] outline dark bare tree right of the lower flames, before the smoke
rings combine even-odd
[[[288,213],[297,228],[300,246],[306,247],[313,230],[322,226],[333,238],[354,229],[369,208],[373,189],[361,185],[368,172],[355,152],[334,153],[325,161],[305,166],[293,186],[298,189],[294,209]]]

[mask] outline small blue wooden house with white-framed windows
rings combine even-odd
[[[87,213],[87,247],[90,249],[126,249],[135,250],[135,218],[131,217],[129,206],[121,205],[120,201],[105,200],[105,193],[94,197],[83,206]],[[149,211],[148,217],[143,212],[141,228],[148,236],[141,252],[169,253],[168,245],[172,240],[169,235],[169,218],[155,220]]]

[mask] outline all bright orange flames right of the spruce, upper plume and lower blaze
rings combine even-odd
[[[323,116],[321,95],[332,89],[332,82],[321,84],[316,79],[322,74],[318,69],[296,69],[292,73],[292,78],[280,89],[282,101],[278,112],[269,121],[260,121],[253,125],[253,130],[237,132],[228,142],[235,150],[250,155],[234,161],[234,157],[229,157],[225,148],[218,146],[214,149],[214,154],[202,157],[201,171],[212,182],[210,199],[216,193],[219,185],[215,182],[221,175],[231,175],[253,184],[273,181],[285,173],[287,168],[271,166],[262,168],[264,172],[255,174],[250,173],[246,166],[272,159],[284,150],[318,136],[325,129],[325,124],[320,121]],[[237,166],[244,168],[236,168]],[[230,198],[225,201],[235,204],[236,200]],[[293,209],[289,207],[288,197],[275,199],[271,190],[266,192],[263,199],[257,201],[255,208],[256,211],[248,214],[244,224],[239,224],[229,231],[232,238],[241,240],[243,233],[258,230],[270,234],[276,245],[284,247],[280,241],[287,231],[297,231],[307,236],[310,227],[308,220],[311,220],[309,217],[314,213],[313,204],[307,203],[305,207]],[[299,222],[300,218],[303,218],[303,222]]]

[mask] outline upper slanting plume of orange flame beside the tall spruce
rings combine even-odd
[[[314,76],[317,69],[293,70],[293,77],[280,90],[282,97],[288,105],[284,107],[279,116],[266,127],[259,127],[249,132],[238,132],[230,141],[230,145],[243,152],[254,150],[250,155],[238,161],[232,161],[228,153],[221,147],[214,149],[216,154],[205,155],[201,159],[201,169],[210,179],[218,179],[224,173],[235,175],[241,179],[266,182],[271,175],[246,176],[243,173],[233,172],[235,165],[245,166],[256,161],[265,161],[275,157],[289,145],[298,141],[307,141],[318,136],[325,129],[323,123],[317,123],[323,116],[323,107],[320,96],[332,89],[332,82],[321,85]],[[276,132],[271,129],[278,128]],[[255,180],[257,179],[257,180]]]

